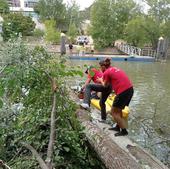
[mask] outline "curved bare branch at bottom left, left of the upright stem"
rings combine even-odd
[[[44,162],[44,160],[41,158],[41,156],[38,154],[38,152],[31,145],[24,143],[24,142],[22,142],[21,144],[32,152],[32,154],[36,157],[36,159],[42,169],[49,169],[47,167],[46,163]]]

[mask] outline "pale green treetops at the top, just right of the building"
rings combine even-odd
[[[66,6],[63,0],[40,0],[35,7],[35,11],[43,21],[55,20],[55,26],[62,31],[67,31],[70,23],[80,28],[80,23],[82,22],[76,1],[71,1]]]

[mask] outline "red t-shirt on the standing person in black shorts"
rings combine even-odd
[[[124,71],[116,67],[110,67],[103,73],[103,80],[112,84],[116,95],[132,87],[132,83]]]

